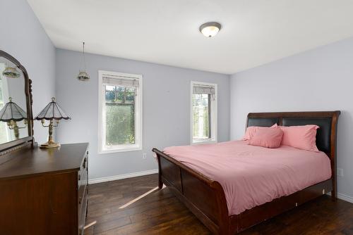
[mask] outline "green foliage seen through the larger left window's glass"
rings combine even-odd
[[[106,145],[135,144],[136,88],[105,87]]]

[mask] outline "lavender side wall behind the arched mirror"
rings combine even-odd
[[[33,115],[55,96],[55,48],[25,0],[0,1],[0,49],[28,70],[32,80]],[[35,122],[35,140],[46,141],[48,130]]]

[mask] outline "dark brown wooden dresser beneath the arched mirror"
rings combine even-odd
[[[26,147],[1,155],[0,234],[83,234],[87,148],[88,144],[49,150]]]

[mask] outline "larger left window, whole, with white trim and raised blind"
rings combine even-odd
[[[100,153],[142,148],[142,76],[99,72]]]

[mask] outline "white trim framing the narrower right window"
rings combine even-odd
[[[204,139],[200,141],[193,141],[193,86],[194,85],[204,85],[215,87],[215,101],[211,102],[211,138]],[[191,81],[190,85],[190,143],[193,144],[213,144],[217,143],[217,100],[218,100],[218,91],[217,84],[209,82],[197,82]],[[213,124],[213,125],[212,125]]]

